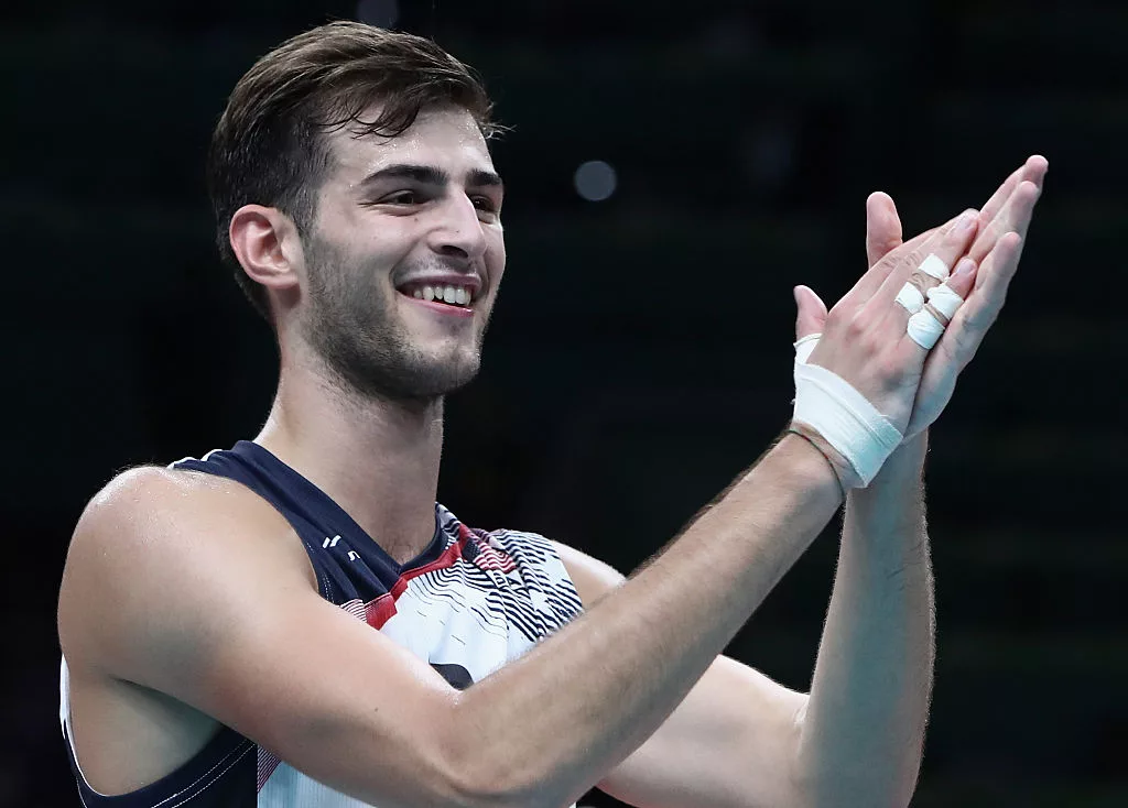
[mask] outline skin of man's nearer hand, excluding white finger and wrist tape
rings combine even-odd
[[[967,295],[976,264],[960,259],[971,248],[978,227],[979,214],[964,211],[916,240],[915,246],[893,250],[875,263],[829,314],[818,295],[805,286],[795,288],[796,335],[822,334],[808,362],[851,384],[900,433],[908,427],[928,350],[909,338],[909,312],[895,299],[929,254],[949,267],[959,261],[948,285],[961,296]]]

